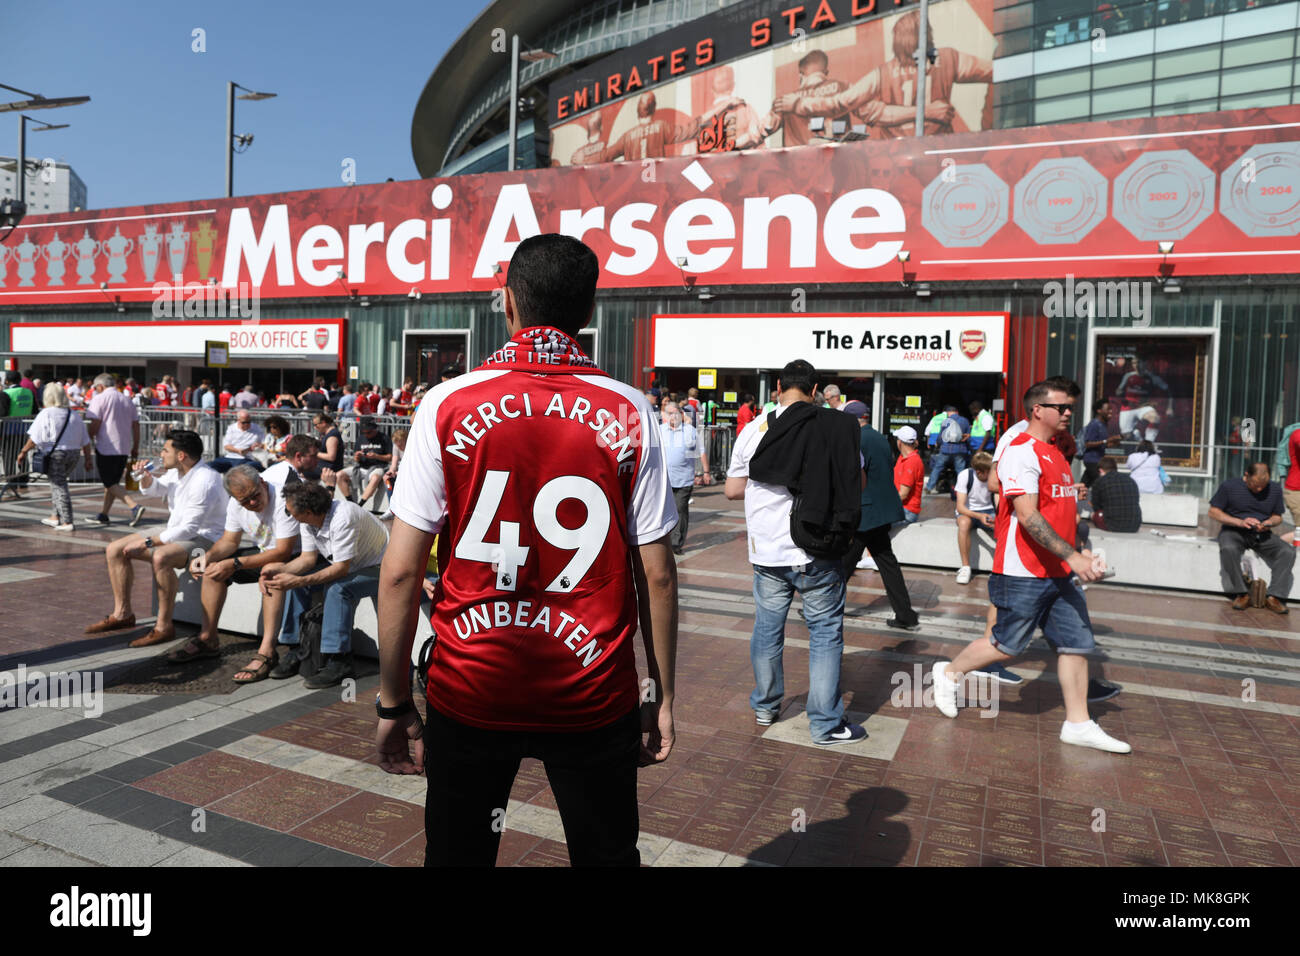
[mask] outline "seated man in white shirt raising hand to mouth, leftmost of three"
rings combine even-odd
[[[113,541],[105,557],[108,580],[113,587],[113,613],[86,628],[86,633],[104,633],[135,627],[131,611],[131,585],[135,583],[133,561],[148,562],[157,585],[159,615],[153,630],[131,641],[133,648],[147,648],[176,639],[172,610],[176,605],[176,572],[190,561],[195,548],[207,550],[221,537],[225,527],[228,496],[221,476],[203,463],[203,440],[187,429],[168,432],[162,442],[164,473],[140,475],[140,494],[166,498],[170,515],[166,528],[150,535],[129,535]]]

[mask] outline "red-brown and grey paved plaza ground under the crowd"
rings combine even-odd
[[[299,679],[235,687],[229,676],[256,645],[234,635],[218,661],[164,667],[155,658],[173,645],[126,648],[151,623],[140,575],[140,627],[82,636],[112,604],[103,550],[131,528],[120,507],[109,528],[51,532],[39,523],[44,496],[0,506],[0,671],[99,671],[108,688],[95,715],[0,711],[0,865],[422,862],[424,778],[376,766],[374,662],[355,702]],[[74,498],[78,516],[92,498]],[[926,514],[946,505],[927,499]],[[1024,683],[998,687],[996,715],[970,708],[948,721],[924,706],[928,680],[911,682],[982,632],[987,579],[961,587],[952,572],[905,571],[919,632],[885,627],[874,572],[849,588],[841,684],[870,736],[833,748],[809,739],[807,631],[793,613],[788,696],[780,719],[758,727],[744,510],[718,486],[697,492],[679,558],[677,744],[640,771],[645,864],[1300,865],[1296,614],[1092,585],[1104,674],[1123,685],[1092,711],[1134,748],[1113,756],[1057,739],[1063,705],[1041,643],[1013,666]],[[568,865],[533,761],[507,808],[499,864]]]

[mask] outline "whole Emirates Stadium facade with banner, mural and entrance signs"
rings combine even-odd
[[[514,243],[566,232],[601,259],[598,362],[723,420],[793,358],[887,428],[972,399],[1005,425],[1062,373],[1171,490],[1271,460],[1300,419],[1300,4],[932,3],[920,135],[918,7],[494,3],[419,99],[422,179],[23,224],[10,360],[225,377],[216,337],[268,390],[436,380],[503,337]],[[256,328],[212,313],[240,284]]]

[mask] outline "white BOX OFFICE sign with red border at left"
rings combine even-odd
[[[10,349],[21,355],[133,355],[205,358],[221,343],[228,362],[320,359],[333,365],[342,345],[342,319],[278,323],[16,323]]]

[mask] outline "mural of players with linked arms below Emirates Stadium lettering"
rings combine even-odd
[[[816,146],[854,127],[871,139],[914,135],[919,23],[909,10],[818,31],[624,96],[554,126],[552,163]],[[928,23],[926,134],[991,129],[992,0],[936,4]]]

